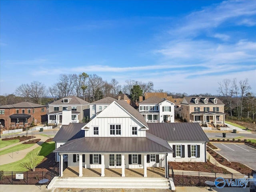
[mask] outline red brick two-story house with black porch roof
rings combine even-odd
[[[28,127],[46,121],[46,106],[20,102],[0,106],[0,122],[6,129]]]

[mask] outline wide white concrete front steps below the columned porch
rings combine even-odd
[[[113,177],[55,177],[47,187],[51,188],[131,188],[131,189],[169,189],[166,178],[113,178]]]

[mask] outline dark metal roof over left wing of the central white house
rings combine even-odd
[[[84,137],[84,130],[81,130],[81,128],[85,125],[86,123],[70,123],[68,125],[62,125],[53,138],[53,141],[68,141]]]

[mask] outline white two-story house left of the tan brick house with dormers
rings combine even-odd
[[[139,112],[148,123],[174,122],[174,103],[156,96],[139,103]]]

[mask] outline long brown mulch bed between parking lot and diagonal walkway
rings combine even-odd
[[[229,162],[220,154],[216,153],[215,151],[211,150],[209,147],[206,150],[212,155],[214,159],[216,159],[220,164],[232,168],[240,173],[247,174],[247,173],[254,173],[254,170],[250,169],[246,165],[238,162]]]

